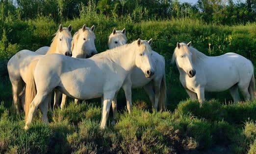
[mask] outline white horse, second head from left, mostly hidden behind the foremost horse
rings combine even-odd
[[[98,53],[95,47],[95,34],[94,34],[95,26],[93,25],[91,28],[85,26],[85,24],[80,28],[73,36],[72,40],[72,57],[74,58],[86,58],[86,56],[93,56]],[[53,108],[56,108],[59,104],[61,97],[61,93],[55,90],[54,96],[54,105]],[[62,102],[65,104],[67,102],[67,96],[62,95]]]

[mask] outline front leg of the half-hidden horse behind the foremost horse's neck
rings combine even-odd
[[[131,103],[131,81],[127,80],[122,88],[124,89],[125,94],[126,94],[126,105],[127,105],[128,112],[131,113],[132,112],[132,109],[131,109],[131,107],[132,107],[132,103]]]

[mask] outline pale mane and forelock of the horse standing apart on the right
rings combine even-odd
[[[188,49],[187,49],[187,48],[184,47],[187,44],[185,44],[185,43],[179,43],[179,44],[180,44],[180,49],[178,49],[178,47],[175,48],[174,53],[173,53],[173,57],[172,57],[172,63],[176,62],[177,55],[180,51],[183,51],[183,52],[186,52],[186,53],[191,52],[193,63],[196,63],[197,60],[202,60],[205,57],[207,57],[204,53],[198,51],[196,48],[194,48],[192,46],[189,46]]]

